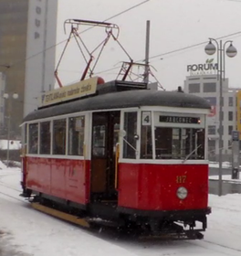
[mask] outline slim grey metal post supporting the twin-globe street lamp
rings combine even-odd
[[[222,40],[220,40],[220,47],[219,47],[219,90],[220,90],[220,99],[219,99],[219,172],[218,172],[218,196],[222,196],[222,165],[223,165],[223,46]]]

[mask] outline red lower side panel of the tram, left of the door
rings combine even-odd
[[[28,188],[80,204],[89,202],[89,161],[27,157]]]

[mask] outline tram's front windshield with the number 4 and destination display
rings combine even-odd
[[[204,159],[204,115],[153,112],[151,117],[141,112],[141,159]]]

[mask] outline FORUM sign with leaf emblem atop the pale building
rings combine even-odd
[[[191,76],[197,75],[213,75],[218,71],[218,64],[214,63],[214,59],[206,59],[204,64],[187,65],[187,72]]]

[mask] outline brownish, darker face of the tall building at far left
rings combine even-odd
[[[26,72],[26,31],[28,0],[0,0],[0,67],[5,73],[5,115],[11,112],[11,133],[20,134],[23,119],[23,101]],[[13,93],[18,99],[13,99]]]

